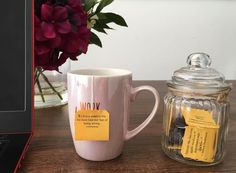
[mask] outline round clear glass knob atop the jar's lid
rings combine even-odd
[[[187,59],[189,66],[207,68],[211,65],[211,58],[206,53],[193,53]]]

